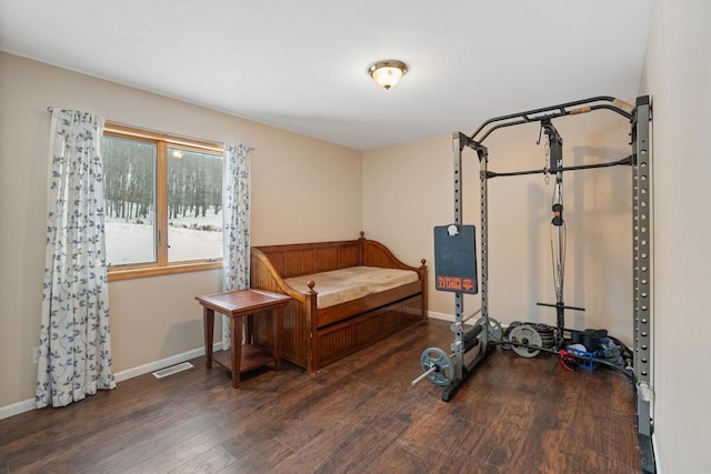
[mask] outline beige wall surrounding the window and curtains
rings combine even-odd
[[[177,100],[0,53],[0,409],[34,396],[50,115],[47,107],[208,140],[247,143],[252,244],[356,239],[361,152]],[[194,295],[219,271],[109,285],[113,367],[128,371],[202,347]]]

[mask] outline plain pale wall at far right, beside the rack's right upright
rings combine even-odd
[[[660,472],[711,458],[711,2],[657,0],[642,89],[652,98],[654,445]]]

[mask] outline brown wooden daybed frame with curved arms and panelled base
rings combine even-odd
[[[282,356],[309,373],[427,319],[425,261],[419,268],[407,265],[383,244],[363,235],[361,232],[360,239],[350,241],[251,249],[251,288],[292,297],[284,316]],[[337,270],[361,270],[354,268],[398,269],[390,272],[408,273],[413,281],[375,293],[367,289],[367,294],[356,299],[326,303],[330,290],[322,290],[321,297],[319,281],[339,275],[341,272],[333,272]],[[348,285],[356,279],[349,273],[341,280]],[[331,305],[319,307],[326,304]],[[271,319],[254,319],[253,324],[253,342],[271,346]]]

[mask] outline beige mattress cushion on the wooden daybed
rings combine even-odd
[[[287,279],[286,282],[294,290],[308,293],[309,286],[307,282],[309,280],[316,282],[313,289],[318,292],[318,307],[329,307],[415,282],[418,281],[418,273],[411,270],[352,266],[343,270],[294,276]]]

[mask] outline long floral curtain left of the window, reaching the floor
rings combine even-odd
[[[103,118],[54,110],[37,407],[113,389],[103,235]]]

